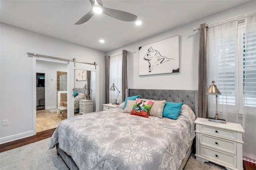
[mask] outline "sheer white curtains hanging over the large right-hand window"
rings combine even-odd
[[[255,14],[247,16],[243,28],[240,22],[238,27],[238,18],[209,26],[207,50],[208,84],[216,81],[222,93],[217,102],[220,119],[242,125],[243,157],[252,162],[256,160],[255,19]],[[215,117],[215,111],[216,97],[208,95],[209,117]]]

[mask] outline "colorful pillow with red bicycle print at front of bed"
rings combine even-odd
[[[136,99],[131,115],[138,115],[142,117],[148,117],[150,108],[153,104],[152,100]]]

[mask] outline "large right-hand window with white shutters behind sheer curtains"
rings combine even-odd
[[[208,77],[222,93],[218,96],[219,111],[239,115],[246,109],[246,114],[255,114],[256,31],[246,28],[245,20],[208,29]],[[211,102],[215,103],[214,99]]]

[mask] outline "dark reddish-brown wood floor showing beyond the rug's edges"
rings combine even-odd
[[[20,146],[24,146],[26,144],[37,142],[39,140],[50,138],[55,129],[56,128],[45,130],[45,131],[36,133],[36,135],[34,136],[0,144],[0,153],[10,149],[18,148]],[[244,170],[256,170],[256,164],[253,164],[247,161],[243,161],[243,166],[244,166]]]

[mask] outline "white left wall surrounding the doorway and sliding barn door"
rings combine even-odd
[[[33,59],[27,52],[96,62],[100,67],[100,108],[104,101],[102,51],[0,23],[0,142],[24,138],[33,130]],[[9,125],[3,126],[3,120]]]

